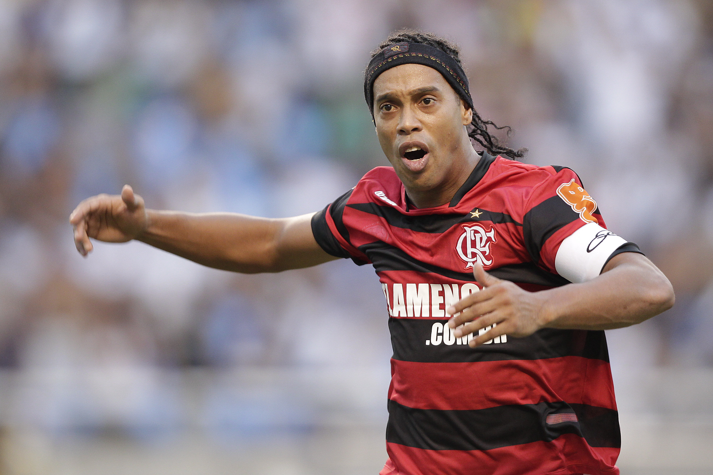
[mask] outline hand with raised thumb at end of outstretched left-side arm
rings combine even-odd
[[[126,242],[138,237],[148,225],[143,198],[125,184],[121,195],[98,194],[78,204],[69,222],[74,228],[74,245],[82,256],[94,246],[89,238]]]

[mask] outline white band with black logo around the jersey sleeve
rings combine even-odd
[[[585,224],[562,241],[555,269],[570,282],[590,281],[601,273],[612,252],[626,242],[597,223]]]

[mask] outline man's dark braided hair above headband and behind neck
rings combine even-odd
[[[379,51],[383,50],[387,46],[395,45],[396,43],[420,43],[428,46],[433,46],[439,50],[451,56],[453,60],[456,61],[461,67],[461,51],[458,45],[451,43],[445,38],[434,35],[434,33],[425,33],[421,31],[411,30],[410,28],[402,28],[398,31],[391,33],[386,40],[382,41],[377,47],[376,51],[371,53],[371,57],[374,58]],[[491,155],[507,155],[511,158],[521,158],[525,156],[528,151],[526,148],[520,148],[518,150],[513,150],[506,147],[505,144],[501,143],[498,137],[493,137],[493,135],[488,132],[488,126],[492,126],[496,130],[506,130],[506,135],[508,137],[511,134],[512,128],[508,125],[503,127],[498,127],[492,120],[483,120],[478,111],[473,108],[473,122],[471,122],[468,127],[468,137],[471,137],[475,142],[482,145]]]

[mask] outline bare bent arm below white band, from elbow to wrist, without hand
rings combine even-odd
[[[645,256],[614,256],[600,276],[540,292],[543,327],[611,330],[641,323],[674,304],[666,276]]]

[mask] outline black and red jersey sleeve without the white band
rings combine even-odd
[[[343,219],[344,207],[353,191],[354,189],[350,189],[312,216],[312,234],[319,247],[330,256],[352,259],[357,265],[363,266],[369,262],[364,259],[365,256],[359,249],[352,246]]]

